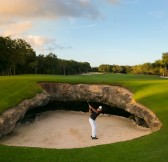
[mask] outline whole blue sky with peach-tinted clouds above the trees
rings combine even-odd
[[[92,67],[152,63],[168,52],[168,0],[0,0],[0,35]]]

